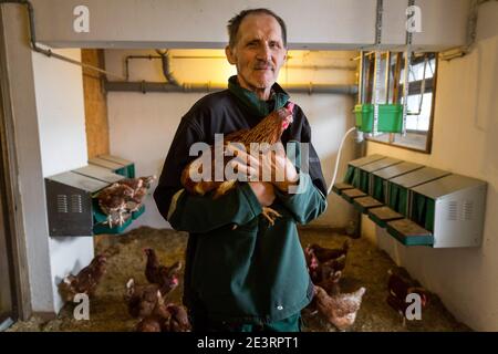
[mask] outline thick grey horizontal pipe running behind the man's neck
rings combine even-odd
[[[160,82],[122,82],[122,81],[106,81],[105,90],[107,92],[165,92],[165,93],[209,93],[226,90],[226,85],[210,84],[210,83],[184,83],[181,85],[172,85]],[[357,93],[357,85],[333,85],[333,84],[301,84],[283,86],[289,93],[305,93],[305,94],[341,94],[355,95]]]

